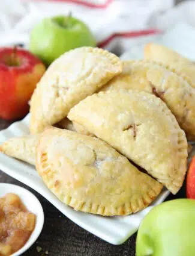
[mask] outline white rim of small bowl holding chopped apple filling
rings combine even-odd
[[[11,254],[11,256],[19,256],[22,255],[29,247],[31,247],[31,245],[37,240],[38,236],[40,235],[44,223],[43,208],[38,199],[31,192],[24,189],[23,187],[19,187],[13,184],[0,183],[0,197],[4,196],[6,193],[16,193],[20,197],[26,208],[37,216],[35,229],[29,237],[29,240],[19,251]]]

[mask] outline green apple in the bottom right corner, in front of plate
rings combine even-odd
[[[153,208],[143,219],[136,256],[194,256],[195,201],[175,199]]]

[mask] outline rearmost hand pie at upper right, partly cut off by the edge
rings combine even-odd
[[[144,49],[144,58],[161,63],[181,76],[185,76],[191,86],[195,87],[195,64],[172,49],[156,43],[148,43]]]

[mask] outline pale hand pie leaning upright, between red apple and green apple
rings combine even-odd
[[[64,119],[70,109],[122,72],[116,55],[82,47],[66,52],[44,73],[31,98],[32,134]]]

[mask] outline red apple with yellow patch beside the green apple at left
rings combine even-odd
[[[24,49],[0,48],[2,119],[19,119],[28,113],[28,101],[45,70],[44,64]]]

